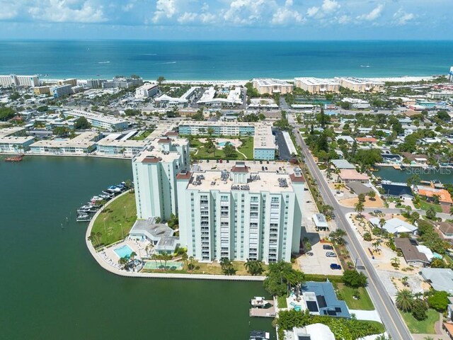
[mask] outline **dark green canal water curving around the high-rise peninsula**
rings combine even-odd
[[[131,179],[130,161],[0,158],[1,339],[248,339],[262,283],[122,278],[86,249],[75,210]]]

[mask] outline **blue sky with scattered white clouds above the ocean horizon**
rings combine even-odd
[[[0,0],[0,8],[0,39],[453,39],[453,0]]]

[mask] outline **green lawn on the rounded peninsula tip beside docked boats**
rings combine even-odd
[[[135,195],[134,193],[125,193],[121,197],[115,198],[103,209],[94,221],[92,231],[101,232],[101,244],[112,244],[123,239],[123,232],[126,237],[135,220],[137,220]]]

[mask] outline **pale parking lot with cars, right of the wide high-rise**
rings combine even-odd
[[[343,268],[342,270],[331,269],[331,263],[340,264],[338,257],[326,256],[328,251],[335,252],[335,250],[323,249],[323,245],[328,243],[321,243],[321,238],[327,237],[328,232],[304,232],[304,229],[302,229],[302,233],[302,237],[309,238],[311,243],[310,252],[313,253],[313,255],[309,256],[304,254],[299,256],[297,263],[299,264],[301,271],[309,274],[343,275]]]

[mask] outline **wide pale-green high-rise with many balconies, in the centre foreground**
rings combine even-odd
[[[180,244],[200,261],[265,263],[299,253],[304,179],[300,174],[226,169],[178,174]]]

